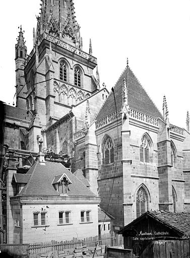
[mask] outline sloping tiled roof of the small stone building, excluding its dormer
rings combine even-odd
[[[96,197],[74,174],[61,163],[46,162],[45,166],[37,161],[26,174],[31,174],[26,186],[20,192],[20,196],[59,196],[53,187],[54,177],[66,174],[72,181],[68,185],[68,196]]]

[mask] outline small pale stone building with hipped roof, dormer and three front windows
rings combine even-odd
[[[38,156],[27,173],[7,169],[7,242],[61,241],[98,235],[100,198],[64,165]],[[6,203],[4,203],[6,205]]]

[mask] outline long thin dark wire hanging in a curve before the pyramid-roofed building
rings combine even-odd
[[[114,94],[114,89],[113,89],[113,87],[111,88],[111,90],[112,90],[112,92],[113,92],[114,103],[115,103],[115,110],[116,110],[116,112],[117,112],[117,106],[116,106],[115,94]],[[105,218],[106,218],[107,211],[108,211],[108,208],[109,208],[109,204],[110,204],[110,201],[111,201],[111,195],[112,195],[112,191],[113,191],[113,185],[114,185],[114,182],[115,182],[115,173],[116,173],[116,168],[117,168],[118,149],[119,149],[118,116],[116,115],[116,117],[117,117],[117,155],[116,155],[116,162],[115,162],[115,170],[114,170],[114,176],[113,176],[113,183],[112,183],[111,192],[110,192],[110,196],[109,196],[109,202],[108,202],[108,205],[107,205],[107,209],[106,209],[106,211],[105,211],[105,217],[104,217],[104,220],[103,220],[102,227],[101,227],[101,229],[100,229],[100,233],[99,233],[99,235],[98,235],[98,241],[97,241],[97,243],[96,243],[96,246],[95,246],[95,249],[94,249],[94,253],[93,253],[92,258],[94,258],[94,254],[95,254],[95,252],[96,252],[96,248],[97,248],[98,242],[101,240],[101,239],[100,239],[101,231],[102,231],[102,228],[103,228],[103,225],[104,225],[104,222],[105,222]]]

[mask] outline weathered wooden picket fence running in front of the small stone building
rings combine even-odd
[[[34,258],[38,253],[47,253],[50,251],[61,251],[64,249],[75,249],[79,246],[95,247],[97,245],[122,246],[123,237],[114,232],[103,234],[100,237],[87,237],[84,239],[73,238],[66,241],[50,241],[32,244],[0,244],[1,251],[7,251],[9,254],[15,254],[15,257]],[[16,256],[17,255],[17,256]]]

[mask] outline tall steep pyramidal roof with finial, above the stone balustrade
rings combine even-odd
[[[121,109],[122,105],[122,85],[123,79],[126,79],[127,68],[123,71],[117,83],[114,86],[115,102],[117,111]],[[102,108],[100,109],[96,120],[107,116],[115,112],[115,102],[113,97],[113,92],[109,94]],[[131,108],[138,110],[142,113],[148,114],[153,117],[160,117],[162,115],[158,108],[155,106],[151,98],[148,96],[138,79],[133,74],[132,70],[129,68],[129,93],[128,93],[128,104]]]

